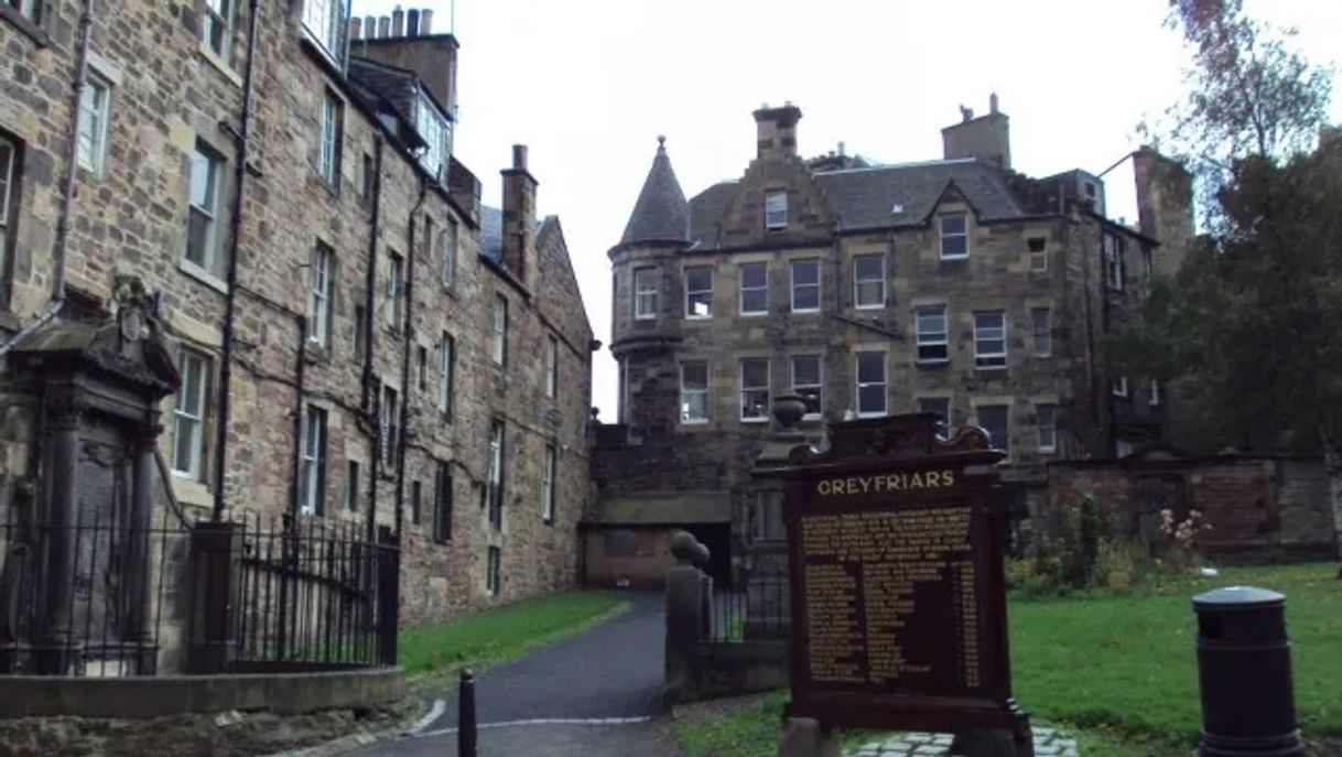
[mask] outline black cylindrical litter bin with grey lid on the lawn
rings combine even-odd
[[[1303,757],[1291,691],[1286,597],[1228,587],[1193,597],[1201,757]]]

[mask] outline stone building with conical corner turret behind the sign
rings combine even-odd
[[[1168,161],[1131,156],[1134,227],[1106,215],[1099,176],[1013,170],[996,95],[942,130],[941,160],[902,165],[804,160],[800,119],[793,105],[757,110],[745,173],[688,200],[658,146],[609,252],[620,417],[599,436],[592,527],[632,527],[631,499],[675,521],[694,497],[718,503],[715,519],[730,510],[733,552],[776,537],[749,470],[785,392],[805,399],[815,440],[849,416],[978,424],[1021,482],[1161,438],[1159,385],[1110,370],[1103,341],[1139,317],[1192,234]],[[711,548],[703,532],[722,544],[721,526],[695,532]]]

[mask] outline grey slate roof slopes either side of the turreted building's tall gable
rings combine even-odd
[[[840,231],[919,225],[951,185],[982,220],[1028,215],[1001,169],[978,158],[823,170],[812,176],[839,217]],[[722,181],[690,200],[692,247],[717,247],[718,221],[738,187],[738,181]],[[899,212],[894,212],[895,205]]]

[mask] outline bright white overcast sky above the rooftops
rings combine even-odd
[[[356,15],[393,0],[353,0]],[[498,170],[530,146],[538,205],[564,223],[588,317],[611,338],[611,267],[656,150],[694,196],[754,156],[761,103],[801,107],[804,156],[843,141],[882,162],[941,157],[957,106],[1012,119],[1012,165],[1032,176],[1102,172],[1138,146],[1134,128],[1180,97],[1186,60],[1162,21],[1168,0],[420,0],[460,42],[455,152],[499,204]],[[1315,62],[1337,58],[1342,3],[1248,0],[1299,28]],[[1335,78],[1333,121],[1342,121]],[[1135,219],[1129,164],[1106,176],[1111,216]],[[609,350],[593,403],[616,413]]]

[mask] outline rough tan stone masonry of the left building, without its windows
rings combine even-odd
[[[99,172],[75,172],[66,248],[74,303],[85,310],[106,307],[114,275],[140,276],[158,294],[170,336],[209,361],[204,470],[199,476],[174,475],[170,482],[193,517],[208,513],[213,499],[209,466],[228,286],[223,266],[201,270],[183,256],[191,156],[205,145],[221,161],[216,230],[217,250],[224,252],[238,191],[234,129],[240,119],[248,26],[238,8],[232,56],[221,60],[201,43],[201,7],[154,0],[94,4],[90,60],[94,72],[111,85],[109,149]],[[36,32],[8,16],[0,19],[0,50],[7,51],[0,63],[5,81],[0,136],[21,148],[12,243],[5,251],[12,260],[7,307],[0,313],[0,326],[9,333],[47,306],[55,275],[79,8],[76,0],[44,3]],[[592,330],[562,230],[550,219],[538,235],[527,235],[523,255],[530,287],[483,259],[478,197],[450,196],[446,185],[419,166],[403,134],[377,121],[311,42],[302,12],[301,1],[263,3],[259,19],[252,170],[244,180],[239,285],[232,291],[236,340],[227,505],[264,515],[291,507],[294,413],[301,405],[321,408],[327,415],[321,517],[362,523],[373,498],[377,523],[391,525],[401,503],[404,621],[444,619],[566,587],[576,574],[576,522],[589,498]],[[341,103],[344,114],[340,177],[333,185],[314,168],[326,95]],[[373,164],[378,156],[374,207],[365,160]],[[456,168],[454,187],[478,187],[464,168]],[[450,223],[458,230],[451,286],[443,281],[439,238]],[[530,223],[537,225],[535,219]],[[298,318],[310,314],[311,255],[318,243],[334,251],[330,337],[306,350],[299,396],[298,356],[305,337]],[[393,256],[403,266],[401,307],[413,298],[408,334],[404,321],[386,317]],[[372,381],[365,385],[356,325],[357,313],[365,310],[370,267],[372,307],[362,317],[373,323]],[[486,315],[497,294],[509,302],[503,368],[491,361]],[[442,412],[437,403],[436,360],[444,336],[454,340],[456,352],[450,412]],[[550,337],[560,344],[554,397],[545,393],[541,357]],[[407,361],[408,380],[403,378]],[[0,393],[9,395],[15,381],[7,377]],[[381,387],[408,403],[404,468],[376,463],[380,424],[374,409]],[[0,503],[11,501],[16,487],[40,481],[40,471],[27,462],[34,419],[24,413],[21,396],[15,401],[0,427],[5,451]],[[161,450],[169,463],[176,442],[173,408],[174,399],[164,403]],[[501,530],[490,527],[482,506],[488,430],[495,419],[505,423],[507,447]],[[542,518],[541,485],[548,444],[557,451],[556,513],[549,522]],[[358,467],[357,489],[352,463]],[[439,544],[432,533],[440,463],[452,474],[448,544]],[[417,522],[412,517],[416,482]],[[488,546],[501,550],[497,596],[486,591]]]

